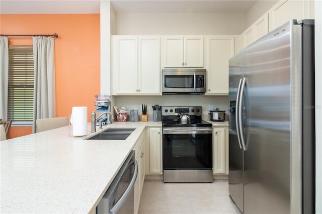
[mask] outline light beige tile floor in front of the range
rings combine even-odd
[[[241,214],[230,200],[228,181],[164,183],[145,180],[139,214]]]

